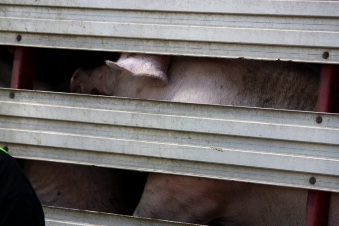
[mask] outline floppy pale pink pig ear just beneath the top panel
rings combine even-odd
[[[125,70],[134,76],[146,76],[168,83],[167,69],[172,56],[122,53],[117,62],[106,60],[110,68]]]

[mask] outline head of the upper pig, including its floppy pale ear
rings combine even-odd
[[[167,68],[171,59],[171,56],[122,54],[118,62],[106,62],[110,67],[78,68],[71,78],[71,92],[137,97],[137,93],[133,94],[136,88],[122,86],[130,86],[131,80],[134,80],[134,86],[144,83],[152,87],[167,85]],[[133,79],[131,76],[134,76]]]

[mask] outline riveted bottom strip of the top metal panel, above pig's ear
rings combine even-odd
[[[124,38],[96,38],[68,35],[1,33],[0,44],[42,48],[117,51],[150,54],[187,55],[219,58],[245,58],[257,60],[288,60],[323,64],[338,64],[339,49],[256,46],[224,43],[192,43],[183,41],[139,40]],[[322,57],[323,52],[329,58]]]

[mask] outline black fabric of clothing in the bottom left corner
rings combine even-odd
[[[41,226],[41,203],[17,161],[0,150],[0,226]]]

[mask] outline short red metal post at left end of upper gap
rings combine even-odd
[[[14,52],[11,88],[33,89],[35,54],[30,47],[18,46]]]

